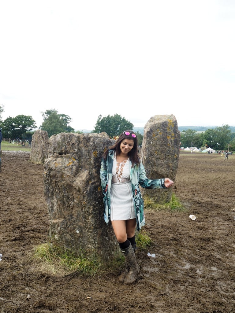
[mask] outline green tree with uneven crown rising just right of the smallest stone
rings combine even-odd
[[[44,122],[39,128],[47,131],[48,137],[63,132],[74,132],[74,129],[69,126],[72,119],[68,115],[58,114],[58,111],[55,109],[46,110],[45,112],[41,112],[41,114]]]

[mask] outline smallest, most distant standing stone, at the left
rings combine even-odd
[[[43,164],[48,156],[48,133],[40,129],[36,130],[32,137],[30,161],[35,164]]]

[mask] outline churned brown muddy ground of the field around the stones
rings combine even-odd
[[[43,171],[29,162],[29,153],[3,151],[1,313],[235,312],[235,156],[225,161],[217,154],[180,152],[174,192],[186,212],[145,211],[144,230],[153,243],[137,252],[144,276],[132,286],[118,282],[118,271],[91,279],[32,266],[32,251],[46,242],[49,225]]]

